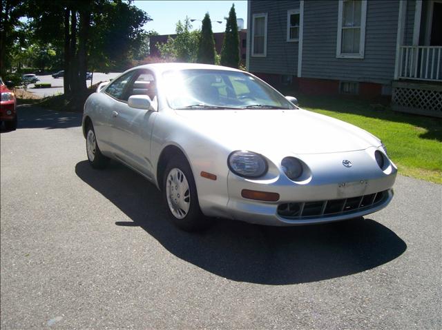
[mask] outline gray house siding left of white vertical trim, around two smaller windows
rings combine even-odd
[[[249,19],[253,31],[253,14],[267,13],[267,56],[252,55],[251,33],[249,71],[270,74],[297,74],[298,42],[287,42],[287,10],[299,9],[299,1],[251,1]]]

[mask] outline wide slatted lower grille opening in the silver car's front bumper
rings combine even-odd
[[[388,198],[388,190],[375,194],[344,199],[318,200],[305,203],[284,203],[278,205],[278,215],[283,218],[302,220],[305,218],[338,216],[371,209]]]

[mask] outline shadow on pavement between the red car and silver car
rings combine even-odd
[[[81,126],[82,114],[76,112],[61,112],[47,110],[35,105],[23,104],[17,106],[17,130],[21,128],[68,128]],[[1,125],[1,133],[11,132]]]

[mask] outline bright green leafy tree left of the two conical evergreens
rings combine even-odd
[[[200,30],[191,31],[192,25],[189,17],[184,24],[177,22],[175,39],[169,37],[166,43],[157,44],[158,50],[164,59],[195,63],[198,57],[198,43],[200,42]]]

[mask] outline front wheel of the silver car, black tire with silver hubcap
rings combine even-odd
[[[185,231],[208,228],[211,222],[201,212],[195,180],[186,158],[174,156],[164,173],[162,194],[172,223]]]

